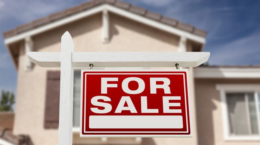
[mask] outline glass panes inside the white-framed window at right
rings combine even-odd
[[[231,136],[259,134],[254,93],[226,93],[226,103]]]

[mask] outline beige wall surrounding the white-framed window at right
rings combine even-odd
[[[225,141],[220,92],[216,84],[259,84],[259,79],[195,79],[197,134],[200,145],[259,145],[260,141]]]

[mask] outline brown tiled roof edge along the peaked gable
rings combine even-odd
[[[49,24],[49,23],[54,22],[56,20],[60,20],[62,18],[74,15],[76,13],[85,11],[87,9],[96,7],[96,6],[101,5],[101,4],[113,5],[115,7],[120,8],[120,9],[124,9],[126,11],[131,12],[131,13],[138,14],[138,15],[143,16],[145,18],[149,18],[151,20],[166,24],[168,26],[189,32],[189,33],[197,35],[197,36],[206,37],[206,35],[207,35],[206,31],[195,28],[192,25],[179,22],[179,21],[172,19],[172,18],[161,16],[158,13],[148,11],[144,8],[131,5],[130,3],[127,3],[127,2],[124,2],[124,1],[119,1],[119,0],[93,0],[93,1],[88,1],[88,2],[82,3],[81,5],[70,7],[68,9],[65,9],[64,11],[53,13],[53,14],[47,16],[47,17],[34,20],[34,21],[29,22],[27,24],[17,26],[14,29],[11,29],[11,30],[4,32],[3,36],[5,38],[10,38],[12,36],[21,34],[23,32],[29,31],[29,30],[32,30],[32,29],[37,28],[39,26]]]

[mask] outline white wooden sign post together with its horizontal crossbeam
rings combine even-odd
[[[196,67],[209,52],[74,52],[69,32],[62,36],[61,52],[28,52],[41,67],[61,67],[59,145],[72,144],[73,68],[89,67]],[[148,98],[147,98],[148,101]]]

